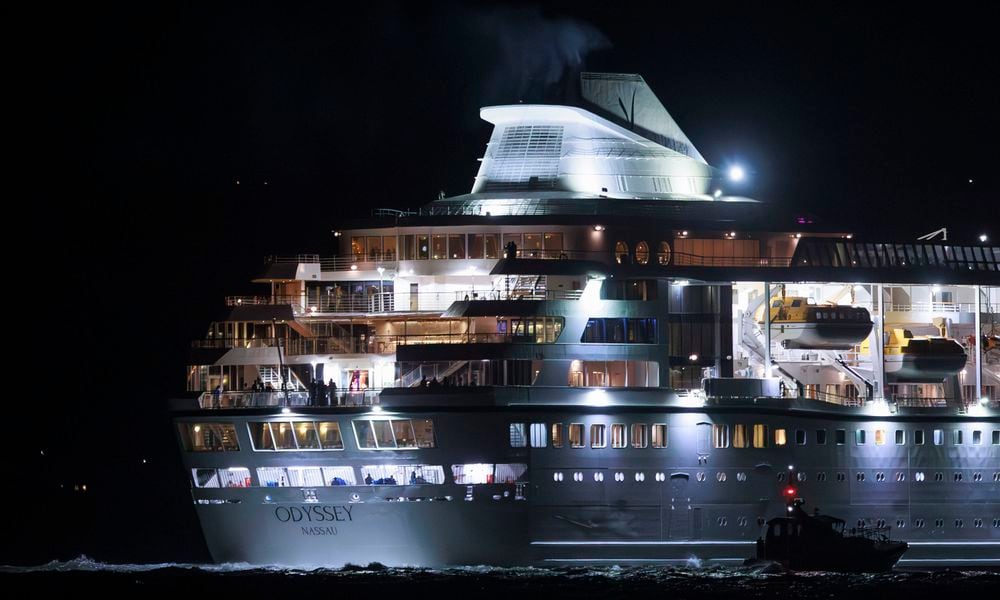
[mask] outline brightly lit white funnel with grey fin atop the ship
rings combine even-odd
[[[521,201],[567,213],[581,199],[746,200],[723,195],[720,173],[639,75],[583,73],[580,97],[481,109],[494,128],[472,192],[433,204],[511,214]]]

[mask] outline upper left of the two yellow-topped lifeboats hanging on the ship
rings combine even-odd
[[[764,325],[763,307],[756,319]],[[847,350],[860,344],[871,330],[871,315],[864,308],[813,304],[798,296],[771,301],[771,338],[783,348]]]

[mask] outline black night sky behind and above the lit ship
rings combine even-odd
[[[203,560],[163,407],[222,296],[255,291],[267,254],[332,253],[339,219],[468,191],[478,107],[551,99],[567,73],[641,73],[762,200],[1000,236],[996,9],[801,4],[9,11],[8,265],[37,277],[27,303],[15,284],[18,379],[43,390],[18,404],[33,422],[58,408],[10,464],[49,499],[28,510],[86,508],[0,559]],[[74,481],[93,512],[57,491]]]

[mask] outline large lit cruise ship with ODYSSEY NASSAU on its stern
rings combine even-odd
[[[1000,247],[785,220],[638,75],[480,115],[470,193],[266,259],[193,343],[215,561],[737,564],[801,501],[1000,565]]]

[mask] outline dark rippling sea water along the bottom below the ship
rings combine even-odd
[[[37,567],[0,567],[6,584],[32,591],[238,593],[309,592],[348,598],[930,598],[997,597],[1000,571],[944,570],[877,575],[791,573],[772,567],[574,567],[450,569],[379,565],[311,571],[248,565],[108,564],[81,557]],[[11,589],[11,588],[8,588]],[[956,595],[957,594],[957,595]]]

